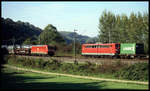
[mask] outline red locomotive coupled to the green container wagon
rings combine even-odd
[[[82,55],[84,56],[116,56],[120,53],[120,44],[83,44]]]

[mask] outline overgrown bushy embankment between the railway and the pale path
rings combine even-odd
[[[112,79],[126,79],[137,81],[148,81],[148,64],[137,63],[134,65],[125,65],[119,61],[114,64],[101,64],[86,62],[84,64],[62,63],[53,59],[29,59],[9,57],[8,64],[34,68],[48,72],[67,73],[83,76],[94,76]]]

